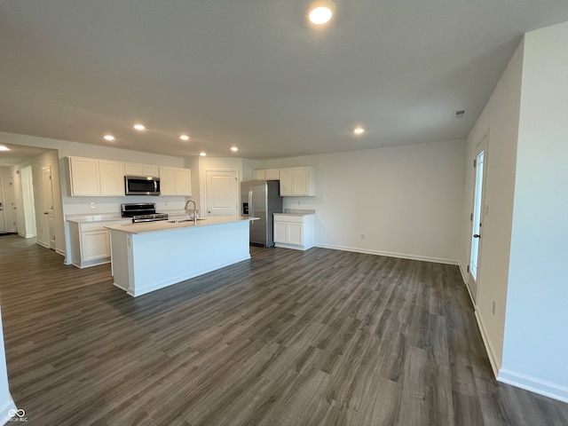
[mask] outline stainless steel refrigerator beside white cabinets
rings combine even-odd
[[[250,244],[272,247],[273,213],[282,212],[280,180],[250,180],[241,182],[241,215],[258,217],[250,221]]]

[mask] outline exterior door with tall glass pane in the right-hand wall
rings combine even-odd
[[[485,137],[477,144],[473,162],[473,202],[471,211],[471,250],[469,255],[469,290],[474,300],[477,299],[477,282],[479,277],[479,259],[483,238],[483,220],[485,206],[485,174],[487,170],[487,143]]]

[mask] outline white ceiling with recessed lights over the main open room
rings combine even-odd
[[[251,159],[465,138],[520,37],[568,20],[565,0],[336,0],[312,28],[309,4],[3,0],[0,130]]]

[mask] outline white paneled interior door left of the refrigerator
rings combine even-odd
[[[237,216],[238,173],[205,171],[205,199],[207,216]]]

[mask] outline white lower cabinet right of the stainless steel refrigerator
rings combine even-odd
[[[315,215],[274,214],[276,247],[307,250],[315,243]]]

